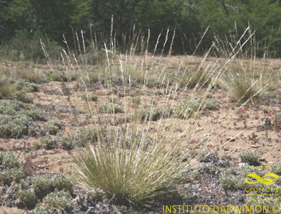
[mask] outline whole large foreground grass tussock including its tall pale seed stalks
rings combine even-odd
[[[79,58],[83,66],[78,64],[77,57],[69,50],[66,41],[68,51],[63,52],[62,61],[65,63],[65,70],[74,69],[77,79],[80,80],[81,89],[84,89],[84,94],[89,96],[89,84],[84,78],[87,69],[84,70],[84,74],[81,72],[82,67],[89,67],[82,32],[81,37],[81,46],[84,50],[80,51]],[[211,46],[197,68],[202,78],[196,77],[198,82],[188,86],[188,78],[185,78],[186,83],[180,85],[178,80],[181,80],[181,76],[176,79],[170,78],[165,66],[159,64],[165,61],[162,56],[164,49],[169,49],[169,55],[171,54],[172,44],[169,47],[164,42],[160,56],[156,56],[155,51],[150,55],[148,54],[150,32],[148,31],[147,36],[143,34],[138,36],[133,32],[132,37],[131,46],[124,54],[118,54],[114,37],[110,38],[110,43],[103,43],[105,60],[104,64],[100,65],[103,66],[103,69],[100,69],[103,75],[99,75],[97,70],[97,77],[105,77],[102,84],[109,91],[106,96],[113,98],[115,92],[123,91],[122,103],[116,104],[112,101],[109,105],[106,101],[100,101],[97,107],[101,113],[109,114],[108,117],[94,111],[89,99],[85,100],[94,124],[95,141],[87,142],[84,136],[81,136],[84,140],[84,148],[77,151],[74,161],[82,182],[89,187],[102,189],[117,203],[157,203],[160,196],[175,191],[188,180],[184,172],[188,172],[190,160],[194,158],[193,154],[196,154],[196,152],[188,152],[186,144],[192,132],[192,124],[195,124],[196,117],[203,111],[201,106],[209,89],[241,51],[244,44],[233,46],[233,53],[228,58],[222,58],[221,61],[206,61],[214,48],[214,45]],[[163,35],[159,34],[160,37]],[[165,41],[168,37],[169,30],[164,35]],[[155,50],[159,45],[158,39]],[[93,43],[93,46],[96,48],[99,45]],[[137,49],[143,50],[141,52],[144,54],[134,56]],[[185,77],[186,74],[181,75]],[[192,102],[186,100],[178,101],[183,103],[180,111],[173,111],[176,100],[171,99],[171,94],[179,93],[180,86],[186,86],[181,88],[181,93],[188,93],[190,101],[199,101],[197,107],[191,107],[191,109],[196,108],[196,114],[193,113],[194,111],[186,111],[192,105]],[[142,96],[150,97],[150,101],[138,105],[137,108],[129,108],[128,95],[132,89],[137,89],[141,92],[138,94]],[[159,95],[150,93],[153,89],[163,91],[160,96],[161,111],[157,108]],[[120,113],[124,113],[125,116],[131,115],[132,118],[131,122],[126,121],[122,128],[117,127],[115,122]],[[183,123],[180,120],[183,116],[188,118],[188,122]],[[175,133],[174,127],[180,125],[183,126],[182,132]],[[202,143],[200,148],[205,145],[206,143]]]

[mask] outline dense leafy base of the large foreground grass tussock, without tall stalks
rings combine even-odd
[[[75,156],[81,181],[89,187],[100,188],[109,197],[115,196],[117,203],[150,203],[184,182],[183,171],[188,165],[174,158],[174,150],[163,151],[164,141],[151,144],[134,132],[129,132],[131,137],[127,137],[126,130],[124,134],[115,130],[105,133],[95,145],[86,144]]]

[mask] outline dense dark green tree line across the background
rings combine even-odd
[[[151,51],[160,32],[159,46],[164,43],[169,27],[168,45],[176,29],[172,53],[190,54],[209,27],[197,50],[204,53],[214,35],[239,36],[251,25],[259,56],[264,51],[281,56],[281,2],[276,0],[0,0],[0,40],[20,48],[25,39],[46,37],[63,45],[64,34],[74,46],[74,32],[83,30],[89,44],[94,34],[101,40],[110,36],[112,15],[120,49],[133,31],[148,34],[149,29]]]

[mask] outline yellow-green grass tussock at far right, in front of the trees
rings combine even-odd
[[[228,90],[230,98],[237,103],[254,103],[268,96],[268,91],[275,89],[277,82],[274,81],[273,70],[270,70],[266,63],[266,53],[262,59],[256,58],[259,45],[251,28],[248,27],[247,31],[251,35],[249,39],[238,39],[236,25],[235,32],[236,34],[230,34],[226,39],[216,37],[216,50],[223,57],[233,54],[234,44],[241,46],[247,42],[244,50],[226,66],[221,82]]]

